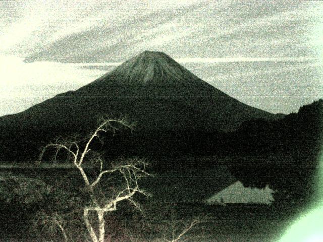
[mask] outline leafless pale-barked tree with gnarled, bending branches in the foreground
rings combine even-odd
[[[137,209],[139,205],[133,200],[133,196],[137,193],[148,196],[143,190],[139,189],[138,180],[142,176],[150,175],[146,172],[147,163],[143,159],[120,159],[117,163],[111,164],[109,168],[102,158],[102,154],[91,150],[94,140],[99,140],[102,133],[115,132],[121,127],[132,129],[133,125],[129,124],[125,119],[104,119],[97,129],[85,139],[83,144],[79,141],[57,140],[55,143],[47,144],[40,154],[42,159],[44,152],[48,148],[56,150],[54,158],[56,159],[60,151],[65,151],[69,155],[74,166],[79,170],[83,177],[85,189],[83,190],[89,196],[89,202],[83,208],[83,220],[87,231],[93,242],[103,242],[105,236],[104,215],[108,212],[117,210],[117,204],[121,201],[129,201]],[[89,175],[85,170],[84,164],[90,161],[97,164],[98,171],[95,175]],[[122,180],[118,181],[117,188],[111,188],[111,193],[106,196],[104,191],[100,189],[102,180],[109,180],[113,175],[119,175]],[[104,184],[104,183],[103,183]],[[95,229],[89,219],[89,213],[94,212],[97,216],[98,228]],[[64,238],[67,240],[66,233],[59,220],[53,220],[63,232]]]

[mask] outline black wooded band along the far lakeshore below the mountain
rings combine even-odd
[[[108,133],[104,137],[104,147],[100,142],[95,146],[97,149],[104,148],[110,158],[120,155],[154,158],[183,155],[223,157],[282,152],[313,157],[318,154],[322,138],[322,102],[319,100],[305,105],[298,113],[288,114],[281,119],[249,120],[230,133],[196,129],[194,124],[176,130],[135,127],[133,131],[121,129],[115,134]],[[66,122],[64,126],[50,129],[50,124],[37,126],[33,119],[33,133],[27,129],[30,126],[28,120],[23,124],[6,126],[6,130],[1,130],[0,134],[3,147],[0,160],[34,161],[41,147],[55,141],[57,134],[60,134],[60,140],[62,137],[80,140],[89,134],[88,127],[95,127],[93,120],[81,121],[82,124],[71,126],[71,122]]]

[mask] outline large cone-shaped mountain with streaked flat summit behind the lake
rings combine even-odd
[[[205,134],[234,131],[251,119],[277,118],[214,88],[167,54],[144,51],[76,91],[0,117],[0,160],[33,159],[50,139],[86,134],[102,116],[136,122],[128,140],[137,150],[154,146],[175,153],[190,147],[188,142],[205,146]]]

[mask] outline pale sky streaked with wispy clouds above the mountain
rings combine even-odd
[[[321,1],[0,1],[0,115],[163,51],[278,113],[323,98]]]

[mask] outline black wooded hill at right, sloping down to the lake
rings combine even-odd
[[[322,138],[323,100],[302,106],[278,120],[250,120],[230,135],[234,149],[253,154],[255,151],[302,151],[317,154]]]

